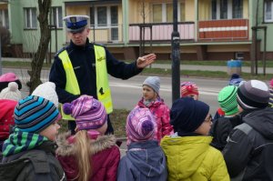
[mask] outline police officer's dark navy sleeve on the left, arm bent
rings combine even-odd
[[[70,103],[73,100],[75,100],[78,95],[73,95],[68,93],[66,88],[66,72],[64,69],[64,66],[62,64],[62,61],[60,58],[56,55],[55,61],[51,67],[50,73],[49,73],[49,81],[54,82],[56,84],[56,93],[58,95],[58,99],[60,103]]]

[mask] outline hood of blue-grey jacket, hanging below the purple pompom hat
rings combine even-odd
[[[157,141],[132,143],[126,156],[144,176],[160,176],[167,170],[165,155]]]

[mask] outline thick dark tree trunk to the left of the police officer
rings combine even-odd
[[[30,80],[27,83],[29,86],[29,93],[31,94],[35,87],[40,85],[42,81],[41,70],[44,64],[45,55],[47,52],[49,40],[50,40],[50,28],[48,26],[48,15],[49,9],[51,7],[51,0],[38,0],[39,6],[39,15],[37,17],[39,25],[40,25],[40,42],[38,45],[38,49],[34,54],[31,62],[31,71],[28,71],[30,75]]]

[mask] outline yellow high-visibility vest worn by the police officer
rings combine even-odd
[[[110,114],[113,112],[113,104],[111,90],[108,84],[106,50],[100,45],[94,45],[94,50],[96,57],[96,96],[97,99],[106,107],[107,114]],[[67,51],[64,50],[58,55],[58,57],[62,60],[66,71],[66,91],[73,95],[80,95],[79,85]],[[61,106],[61,112],[63,119],[75,120],[72,116],[64,113],[63,106]]]

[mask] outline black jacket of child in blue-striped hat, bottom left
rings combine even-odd
[[[56,144],[47,141],[35,149],[4,157],[0,165],[1,180],[65,181],[66,175],[56,159],[55,151]]]

